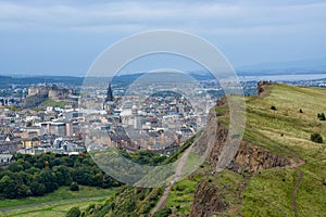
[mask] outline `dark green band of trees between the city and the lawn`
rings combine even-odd
[[[121,186],[105,175],[88,154],[16,154],[14,158],[16,162],[0,171],[0,199],[40,196],[72,183],[100,188]]]

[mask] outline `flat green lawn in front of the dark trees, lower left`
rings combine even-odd
[[[65,214],[71,207],[74,206],[86,207],[91,203],[102,202],[106,196],[109,197],[113,195],[115,191],[115,189],[100,189],[85,186],[82,186],[79,191],[70,191],[68,187],[61,187],[55,192],[46,194],[43,196],[20,200],[3,200],[0,203],[0,207],[12,207],[13,209],[0,212],[0,216],[20,216],[23,214],[23,216],[51,216],[51,212],[59,210]],[[88,197],[88,200],[86,200],[86,197]],[[53,202],[53,204],[49,204],[49,202]],[[33,204],[37,204],[37,206],[32,206]],[[45,213],[47,213],[47,215],[45,215]]]

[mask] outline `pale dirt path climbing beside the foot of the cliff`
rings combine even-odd
[[[177,167],[176,167],[176,170],[175,170],[175,175],[174,175],[174,179],[172,180],[172,183],[164,190],[164,193],[163,195],[161,196],[160,201],[156,203],[155,207],[151,210],[150,213],[150,217],[153,216],[159,209],[163,208],[165,206],[165,203],[166,203],[166,200],[167,200],[167,196],[168,196],[168,193],[172,189],[172,184],[175,183],[176,181],[178,181],[178,179],[180,178],[181,176],[181,171],[183,171],[183,168],[184,166],[186,165],[187,163],[187,158],[188,158],[188,155],[191,151],[191,148],[192,145],[190,145],[183,154],[181,158],[180,158],[180,162],[178,163]]]

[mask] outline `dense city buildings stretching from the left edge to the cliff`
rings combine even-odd
[[[325,87],[325,79],[293,81],[303,86]],[[205,125],[208,110],[223,94],[221,87],[216,89],[218,84],[210,79],[201,80],[201,85],[212,99],[198,94],[196,100],[178,91],[166,92],[155,84],[128,93],[124,82],[120,85],[114,97],[111,85],[104,91],[96,85],[89,86],[83,97],[75,95],[72,88],[47,84],[12,87],[10,91],[1,89],[0,165],[11,162],[14,153],[78,154],[108,146],[168,154]],[[256,81],[241,81],[241,86],[244,94],[255,94]],[[202,91],[184,82],[172,87],[196,94]],[[67,103],[64,107],[24,108],[28,99],[40,98]]]

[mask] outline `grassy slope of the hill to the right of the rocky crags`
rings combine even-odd
[[[247,99],[244,140],[294,163],[251,178],[242,192],[243,216],[326,214],[326,122],[317,118],[322,112],[326,112],[326,89],[321,88],[274,84],[263,95]],[[313,132],[319,132],[324,143],[312,142]]]

